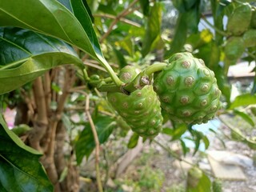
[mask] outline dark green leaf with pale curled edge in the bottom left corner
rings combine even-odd
[[[53,191],[41,156],[9,130],[0,115],[0,191]]]

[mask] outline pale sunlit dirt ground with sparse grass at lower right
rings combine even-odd
[[[232,121],[232,119],[231,119]],[[246,144],[242,142],[235,142],[230,138],[226,137],[230,135],[230,129],[226,126],[221,125],[219,128],[220,134],[218,138],[212,134],[208,135],[210,138],[210,146],[207,150],[226,150],[227,152],[232,152],[234,154],[242,154],[246,157],[253,159],[256,155],[255,150],[251,150]],[[256,130],[252,134],[256,135]],[[223,146],[222,142],[219,140],[222,138],[222,142],[226,146]],[[175,142],[169,142],[165,136],[159,136],[159,142],[164,145],[170,146],[170,148],[176,151],[177,154],[181,154],[182,151]],[[206,150],[206,151],[207,151]],[[210,171],[213,174],[209,161],[206,156],[206,151],[199,151],[196,155],[192,156],[190,154],[186,155],[186,161],[198,164],[202,169]],[[146,156],[146,157],[145,157]],[[143,160],[145,161],[143,163]],[[166,150],[162,150],[160,146],[155,143],[146,145],[143,147],[142,153],[134,160],[134,162],[128,167],[126,173],[122,174],[123,178],[135,178],[138,170],[142,169],[143,166],[149,166],[152,170],[161,170],[164,174],[164,182],[160,190],[161,192],[185,192],[186,186],[186,173],[190,165],[178,161]],[[223,192],[255,192],[256,191],[256,166],[254,159],[254,166],[240,166],[242,172],[246,175],[246,181],[230,181],[222,180],[222,190]],[[213,179],[213,177],[210,177]],[[129,191],[129,190],[128,190]],[[133,190],[136,191],[136,190]]]

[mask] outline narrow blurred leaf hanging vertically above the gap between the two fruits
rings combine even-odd
[[[155,3],[150,9],[150,15],[146,23],[146,37],[142,42],[142,56],[153,50],[157,45],[161,33],[162,6],[160,3]]]

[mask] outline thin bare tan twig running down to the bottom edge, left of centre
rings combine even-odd
[[[94,121],[93,121],[93,119],[90,116],[90,96],[89,95],[87,95],[87,97],[86,97],[86,109],[85,109],[85,112],[86,112],[86,116],[87,116],[87,118],[89,120],[89,123],[90,123],[91,131],[94,134],[94,142],[95,142],[95,169],[96,169],[96,178],[97,178],[98,191],[99,192],[103,192],[102,181],[101,181],[101,174],[100,174],[99,165],[98,165],[99,164],[99,146],[100,146],[100,143],[98,141],[98,134],[97,134],[97,131],[96,131],[96,127],[94,125]]]

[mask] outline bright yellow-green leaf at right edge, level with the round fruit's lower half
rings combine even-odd
[[[256,95],[255,94],[242,94],[234,99],[234,102],[231,102],[229,110],[233,110],[238,106],[249,106],[256,104]]]

